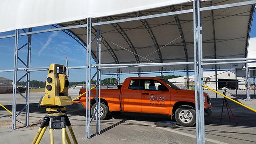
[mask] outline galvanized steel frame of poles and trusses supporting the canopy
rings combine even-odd
[[[139,17],[136,18],[126,18],[126,19],[121,19],[121,20],[114,20],[113,18],[110,18],[110,20],[107,20],[106,22],[101,22],[100,20],[97,20],[97,22],[94,20],[94,23],[92,23],[92,18],[87,18],[86,24],[80,24],[78,26],[67,26],[67,27],[60,27],[60,28],[53,28],[53,29],[48,29],[48,30],[40,30],[40,31],[34,31],[32,32],[32,29],[30,28],[28,32],[24,33],[19,33],[19,30],[16,30],[16,34],[10,35],[10,36],[2,36],[0,38],[10,38],[10,37],[15,37],[15,51],[14,51],[14,84],[13,84],[13,108],[12,108],[12,129],[16,129],[16,118],[26,108],[26,124],[25,126],[28,126],[28,117],[29,117],[29,81],[30,81],[30,71],[32,69],[39,69],[39,70],[47,70],[48,68],[30,68],[30,52],[31,52],[31,34],[37,34],[37,33],[42,33],[42,32],[52,32],[52,31],[57,31],[57,30],[69,30],[69,29],[74,29],[74,28],[86,28],[86,36],[87,36],[87,41],[86,41],[86,66],[85,67],[74,67],[75,68],[86,68],[86,135],[85,138],[88,139],[90,138],[90,123],[92,122],[92,118],[96,114],[96,135],[100,134],[100,86],[101,86],[101,70],[102,69],[109,69],[109,68],[116,68],[117,69],[117,75],[120,74],[120,68],[128,68],[128,67],[137,67],[138,68],[138,76],[140,76],[140,67],[144,66],[161,66],[161,76],[163,75],[163,66],[171,66],[171,65],[187,65],[187,75],[188,75],[188,64],[194,64],[194,72],[195,72],[195,100],[196,100],[196,141],[198,144],[204,144],[205,143],[205,135],[204,135],[204,101],[203,101],[203,66],[204,65],[215,65],[215,70],[216,70],[216,64],[232,64],[234,61],[236,63],[246,63],[246,68],[247,68],[247,63],[251,62],[249,60],[256,60],[256,58],[232,58],[232,59],[217,59],[216,58],[216,45],[214,41],[214,59],[207,59],[203,60],[202,57],[202,11],[206,10],[211,10],[212,11],[212,22],[213,22],[213,31],[214,31],[214,16],[213,16],[213,10],[216,9],[221,9],[221,8],[230,8],[230,7],[236,7],[236,6],[245,6],[245,5],[255,5],[256,1],[255,0],[250,0],[246,2],[240,2],[240,3],[233,3],[233,4],[225,4],[225,5],[219,5],[219,6],[209,6],[209,7],[204,7],[200,8],[200,0],[193,1],[193,9],[190,10],[181,10],[181,11],[175,11],[172,9],[172,12],[167,12],[167,13],[162,13],[162,14],[154,14],[154,15],[149,15],[149,16],[142,16],[141,13],[139,13]],[[154,34],[152,33],[152,30],[150,29],[150,26],[147,24],[146,19],[149,18],[158,18],[158,17],[163,17],[163,16],[176,16],[176,23],[180,29],[180,36],[182,37],[183,32],[181,30],[181,27],[179,26],[179,19],[178,19],[178,14],[185,14],[185,13],[193,13],[193,27],[194,27],[194,62],[188,62],[186,59],[186,62],[168,62],[168,63],[163,63],[162,60],[162,54],[160,52],[158,43],[156,41],[156,38],[154,37]],[[135,20],[140,20],[144,27],[148,30],[148,33],[150,34],[152,41],[154,42],[154,46],[156,47],[156,50],[158,52],[158,56],[160,58],[160,63],[138,63],[140,61],[140,58],[138,57],[138,54],[136,54],[136,50],[134,49],[134,46],[132,42],[130,42],[130,39],[124,32],[122,32],[122,28],[118,25],[119,22],[129,22],[129,21],[135,21]],[[122,36],[126,38],[126,42],[129,44],[130,49],[134,52],[134,56],[136,57],[136,64],[119,64],[118,58],[116,57],[116,54],[110,47],[110,45],[102,40],[101,36],[101,26],[105,24],[112,24],[116,29],[120,30],[120,33],[122,33]],[[93,28],[93,26],[97,27],[97,30]],[[92,29],[94,29],[95,32],[92,32]],[[215,32],[214,32],[215,33]],[[91,50],[91,45],[94,40],[92,40],[92,34],[96,36],[94,40],[97,42],[97,52],[96,54],[92,54]],[[28,43],[25,44],[24,46],[28,45],[28,60],[27,64],[25,64],[20,58],[18,58],[18,50],[23,48],[18,48],[18,39],[19,36],[28,36]],[[249,35],[248,35],[249,36]],[[214,36],[215,40],[215,36]],[[115,60],[116,64],[101,64],[101,42],[108,48],[109,52],[111,53],[112,57]],[[184,38],[182,39],[182,42],[185,43]],[[248,45],[247,45],[248,46]],[[184,47],[184,51],[186,53],[186,47]],[[94,58],[96,61],[95,65],[91,64],[91,58]],[[187,56],[186,56],[187,58]],[[18,68],[18,59],[26,66],[26,68]],[[217,62],[217,61],[224,61],[225,62]],[[208,61],[213,61],[213,63],[207,63]],[[230,61],[230,62],[226,62]],[[206,62],[206,63],[203,63]],[[97,95],[96,97],[93,96],[96,100],[97,103],[97,110],[92,116],[90,117],[90,96],[92,95],[90,91],[90,86],[91,86],[91,80],[94,78],[91,77],[91,68],[97,68],[96,74],[94,76],[97,76]],[[69,68],[72,69],[72,68]],[[27,92],[26,92],[26,97],[23,96],[20,92],[17,91],[16,89],[16,84],[19,80],[17,80],[17,72],[18,70],[26,70],[26,74],[22,77],[24,78],[27,76]],[[10,70],[3,70],[0,72],[7,72]],[[247,88],[250,88],[250,83],[249,83],[249,70],[247,68],[246,70],[247,74]],[[120,75],[118,78],[118,81],[120,80]],[[217,80],[217,79],[216,79]],[[188,85],[188,84],[187,84]],[[217,90],[217,88],[216,88]],[[16,93],[20,93],[25,99],[26,99],[26,106],[16,115]],[[249,94],[249,96],[248,96]],[[247,89],[247,100],[250,100],[250,91]],[[217,98],[217,96],[216,96]]]

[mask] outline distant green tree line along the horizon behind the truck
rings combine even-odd
[[[178,78],[181,76],[174,76],[174,75],[168,75],[168,76],[163,76],[164,79],[168,80],[170,78]],[[156,76],[156,78],[161,78],[161,76]],[[91,84],[96,84],[96,80],[92,80]],[[37,80],[31,80],[30,81],[30,87],[31,88],[45,88],[45,82],[42,81],[37,81]],[[83,82],[69,82],[69,86],[76,86],[78,84],[86,84],[86,81]],[[117,79],[116,78],[105,78],[103,80],[101,80],[101,84],[102,85],[106,85],[106,84],[117,84]],[[17,82],[17,85],[20,86],[26,86],[26,82]]]

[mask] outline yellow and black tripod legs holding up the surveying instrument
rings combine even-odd
[[[71,141],[66,132],[66,126],[68,126],[68,129],[70,131],[74,144],[78,144],[76,140],[76,136],[72,130],[71,123],[68,119],[68,116],[65,113],[66,108],[54,106],[54,108],[46,108],[46,111],[48,114],[44,117],[42,123],[40,124],[40,128],[38,129],[36,136],[32,141],[32,144],[40,143],[44,135],[44,132],[48,126],[49,126],[49,132],[50,132],[50,144],[54,143],[53,142],[54,129],[62,129],[62,144],[66,144],[66,141],[68,142],[68,144],[71,144]]]

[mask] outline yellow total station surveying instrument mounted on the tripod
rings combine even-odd
[[[68,76],[66,67],[61,64],[51,64],[46,79],[45,95],[42,96],[39,106],[67,106],[71,105],[71,96],[68,96]]]

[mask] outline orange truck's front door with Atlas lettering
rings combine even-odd
[[[158,86],[166,90],[158,90]],[[144,79],[142,88],[142,112],[169,114],[171,92],[157,80]]]

